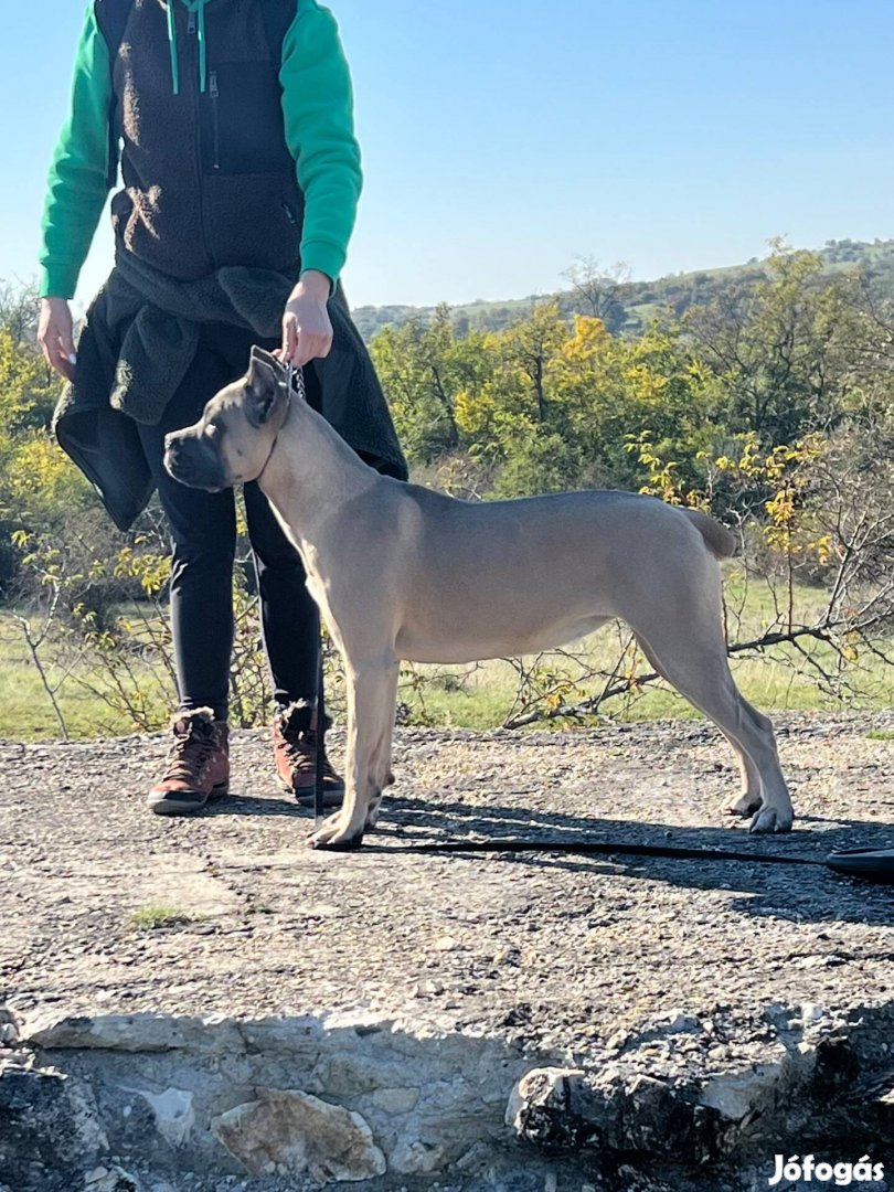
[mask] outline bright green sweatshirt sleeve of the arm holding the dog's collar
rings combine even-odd
[[[333,281],[344,265],[362,186],[350,74],[335,18],[300,0],[279,74],[286,143],[304,191],[302,268]]]

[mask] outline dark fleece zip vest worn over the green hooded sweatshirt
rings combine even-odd
[[[116,0],[97,0],[110,41],[123,190],[112,197],[118,252],[194,280],[246,265],[298,275],[304,203],[285,139],[280,46],[259,0],[209,0],[206,91],[198,18],[174,5],[180,73],[173,92],[167,7],[131,0],[120,39]],[[118,4],[122,0],[117,0]],[[294,0],[283,0],[294,13]]]

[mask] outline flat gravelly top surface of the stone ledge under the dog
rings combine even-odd
[[[143,806],[163,734],[2,744],[0,1001],[20,1019],[364,1010],[585,1067],[639,1049],[675,1079],[759,1058],[772,1007],[889,1029],[890,888],[822,867],[404,850],[501,834],[894,848],[894,714],[778,716],[777,732],[796,826],[755,838],[720,812],[737,775],[709,725],[402,730],[356,853],[306,848],[262,732],[234,734],[234,796],[181,820]],[[141,925],[160,908],[164,926]],[[650,1033],[679,1014],[719,1038]]]

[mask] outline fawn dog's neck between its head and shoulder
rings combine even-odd
[[[292,532],[316,545],[323,522],[383,480],[322,415],[293,398],[257,483]]]

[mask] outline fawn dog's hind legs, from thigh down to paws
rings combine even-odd
[[[739,759],[741,797],[730,808],[753,813],[752,832],[787,832],[793,809],[780,768],[772,725],[735,687],[726,654],[719,608],[704,595],[679,616],[665,609],[648,632],[633,626],[654,669],[714,721]],[[681,626],[687,632],[682,633]]]

